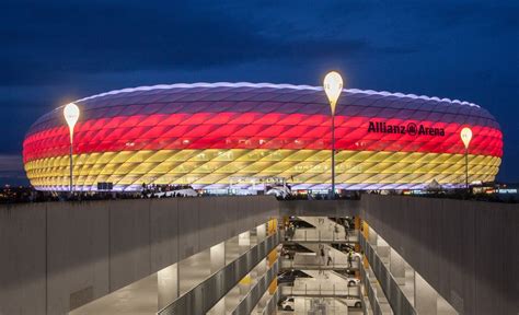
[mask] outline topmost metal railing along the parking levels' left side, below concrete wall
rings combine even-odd
[[[182,294],[159,315],[206,314],[223,295],[243,279],[280,242],[279,233],[267,236],[234,261],[214,273],[200,284]]]

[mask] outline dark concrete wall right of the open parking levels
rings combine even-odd
[[[519,313],[519,205],[364,195],[360,209],[461,314]]]

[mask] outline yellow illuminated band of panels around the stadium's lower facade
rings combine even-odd
[[[222,159],[222,156],[227,156]],[[230,160],[233,156],[234,160]],[[264,156],[260,159],[253,159]],[[182,159],[183,158],[183,159]],[[330,151],[326,150],[159,150],[122,151],[76,155],[74,183],[94,187],[99,182],[114,185],[230,184],[237,176],[279,176],[288,183],[326,184]],[[492,180],[500,159],[469,155],[469,180]],[[464,183],[464,155],[419,152],[341,152],[336,155],[336,183],[439,184]],[[68,156],[27,162],[32,185],[68,185]]]

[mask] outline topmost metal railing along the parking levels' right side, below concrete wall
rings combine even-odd
[[[374,248],[371,246],[371,244],[369,244],[361,233],[359,234],[359,244],[360,248],[368,258],[371,270],[377,277],[380,287],[384,291],[385,298],[388,299],[393,313],[402,315],[415,315],[416,310],[413,307],[413,304],[411,304],[410,300],[407,300],[407,298],[404,295],[404,292],[396,283],[391,272],[388,270],[388,267],[385,267]]]

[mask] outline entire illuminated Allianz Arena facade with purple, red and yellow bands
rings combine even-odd
[[[125,89],[74,102],[76,190],[140,190],[146,184],[256,189],[235,178],[285,178],[292,189],[331,186],[331,110],[322,88],[195,83]],[[503,155],[495,118],[477,105],[401,93],[344,90],[335,114],[338,189],[463,186],[460,130],[473,131],[469,180],[494,180]],[[62,107],[23,142],[31,184],[69,189]],[[254,182],[254,179],[252,180]],[[235,188],[235,187],[234,187]]]

